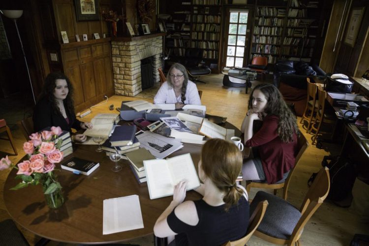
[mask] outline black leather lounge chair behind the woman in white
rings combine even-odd
[[[202,82],[197,78],[204,75],[209,75],[212,73],[212,70],[205,65],[199,66],[204,56],[204,50],[198,48],[187,48],[183,59],[179,61],[182,65],[184,65],[187,69],[188,75],[192,82]]]

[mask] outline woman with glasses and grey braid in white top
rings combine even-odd
[[[188,80],[186,68],[180,64],[173,64],[165,81],[154,97],[154,104],[175,103],[176,109],[185,104],[201,105],[196,84]]]

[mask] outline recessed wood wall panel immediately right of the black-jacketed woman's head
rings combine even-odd
[[[82,105],[85,102],[79,64],[77,63],[75,65],[69,66],[64,72],[66,76],[68,76],[70,83],[73,85],[74,105],[76,107],[76,110],[79,111],[80,109],[77,109],[78,106]]]

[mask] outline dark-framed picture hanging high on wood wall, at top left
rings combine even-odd
[[[77,21],[98,21],[98,0],[74,0]]]

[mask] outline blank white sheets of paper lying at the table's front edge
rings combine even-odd
[[[105,199],[102,234],[144,228],[138,195]]]

